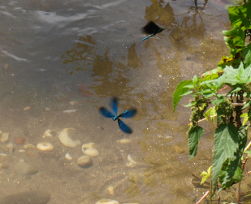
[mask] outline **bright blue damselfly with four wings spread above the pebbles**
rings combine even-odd
[[[99,108],[99,112],[101,113],[101,115],[106,118],[111,118],[113,121],[117,120],[119,128],[123,132],[131,134],[132,129],[128,125],[126,125],[120,118],[131,118],[136,115],[137,110],[136,109],[125,110],[124,112],[118,115],[118,98],[116,97],[111,99],[110,106],[112,111],[109,111],[105,107]]]

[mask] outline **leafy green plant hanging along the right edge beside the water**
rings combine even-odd
[[[247,145],[251,126],[251,0],[229,7],[228,14],[231,29],[223,34],[230,55],[223,56],[216,69],[180,82],[173,94],[174,109],[183,96],[192,97],[186,105],[192,112],[188,131],[191,157],[196,156],[204,133],[200,122],[216,123],[212,166],[202,174],[203,182],[211,178],[211,194],[243,179],[251,153],[251,143]]]

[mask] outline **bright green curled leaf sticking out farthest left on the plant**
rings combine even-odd
[[[176,109],[176,106],[180,102],[181,98],[186,95],[188,92],[190,92],[190,88],[187,88],[187,85],[191,85],[192,81],[191,80],[184,80],[178,84],[176,87],[174,93],[173,93],[173,98],[172,98],[172,103],[173,103],[173,109]]]

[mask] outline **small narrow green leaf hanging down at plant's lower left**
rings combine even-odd
[[[188,131],[188,147],[190,156],[194,157],[197,154],[198,143],[204,130],[200,126],[192,126]]]

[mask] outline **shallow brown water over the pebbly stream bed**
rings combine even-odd
[[[210,134],[202,156],[189,160],[189,112],[173,112],[171,95],[180,80],[214,68],[227,53],[225,6],[212,0],[196,13],[187,0],[2,0],[0,130],[9,138],[0,144],[0,203],[198,199],[193,174],[208,166]],[[140,29],[150,20],[165,30],[142,42]],[[126,121],[133,134],[99,115],[112,96],[120,111],[137,108]],[[60,143],[64,128],[74,128],[81,144],[95,143],[99,155],[90,167],[76,163],[81,145]],[[48,129],[52,136],[42,137]],[[39,142],[54,149],[39,151]]]

